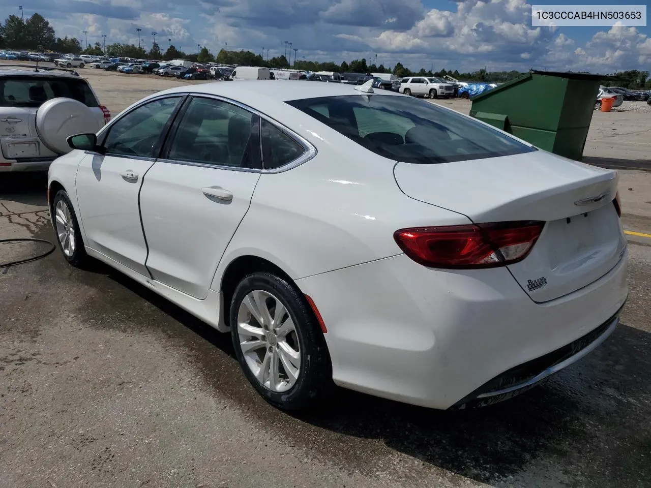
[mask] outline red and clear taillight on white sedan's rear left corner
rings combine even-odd
[[[429,267],[468,269],[504,266],[523,260],[544,222],[500,222],[396,230],[400,249]]]

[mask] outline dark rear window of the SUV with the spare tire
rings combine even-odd
[[[0,107],[40,107],[51,98],[73,98],[87,107],[99,103],[83,79],[46,76],[0,77]]]

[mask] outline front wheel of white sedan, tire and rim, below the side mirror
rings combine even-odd
[[[52,202],[52,218],[57,233],[59,249],[66,261],[76,267],[88,264],[90,258],[81,238],[81,230],[68,193],[59,190]]]

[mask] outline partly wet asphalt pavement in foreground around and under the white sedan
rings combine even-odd
[[[54,241],[44,185],[2,176],[0,239]],[[0,244],[0,262],[47,249]],[[651,239],[629,252],[611,338],[514,400],[453,413],[344,390],[281,413],[229,336],[116,271],[58,250],[0,268],[0,487],[649,487]]]

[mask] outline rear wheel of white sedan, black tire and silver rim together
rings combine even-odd
[[[233,346],[244,375],[264,400],[298,410],[329,393],[326,340],[305,296],[273,273],[252,273],[230,303]]]

